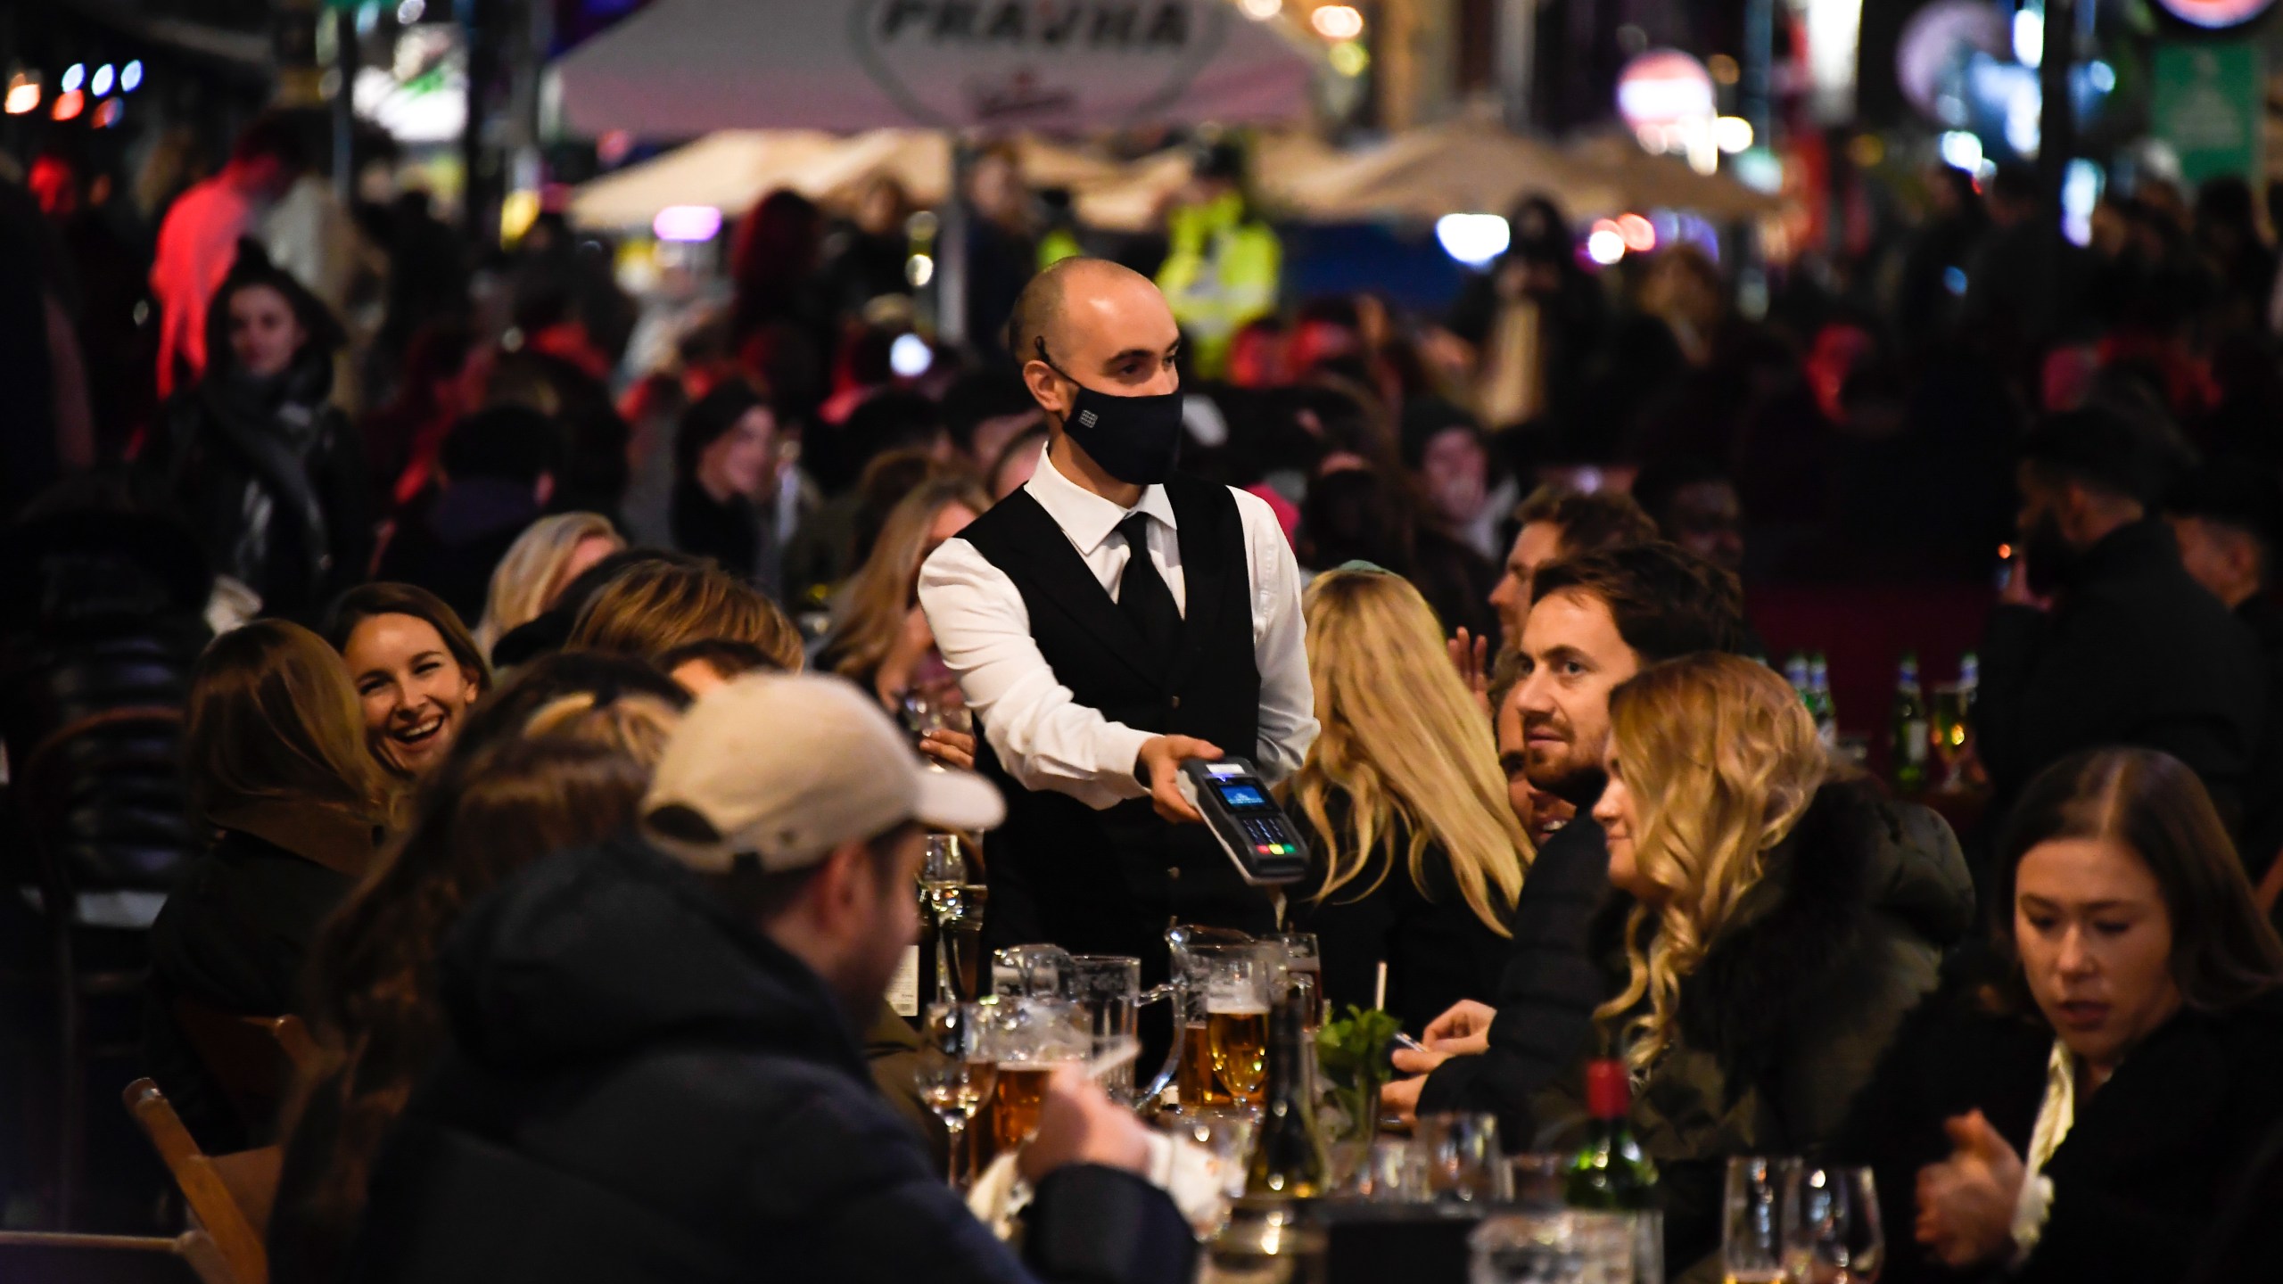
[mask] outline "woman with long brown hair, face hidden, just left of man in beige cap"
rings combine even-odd
[[[477,896],[523,866],[614,834],[635,818],[651,768],[687,704],[635,660],[596,660],[591,690],[562,692],[454,754],[404,841],[340,907],[310,960],[310,1033],[322,1053],[292,1108],[272,1279],[333,1279],[365,1204],[372,1163],[413,1083],[447,1044],[436,948]],[[596,681],[598,679],[598,681]],[[518,688],[559,690],[550,672]],[[489,706],[486,706],[489,708]]]

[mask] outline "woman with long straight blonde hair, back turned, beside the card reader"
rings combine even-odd
[[[1530,836],[1482,706],[1443,658],[1427,599],[1379,569],[1326,571],[1301,599],[1324,724],[1288,809],[1315,870],[1290,902],[1315,932],[1324,996],[1370,1005],[1388,964],[1388,1012],[1409,1030],[1491,994]]]

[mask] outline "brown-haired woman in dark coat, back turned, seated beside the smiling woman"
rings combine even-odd
[[[219,829],[151,925],[144,1060],[210,1154],[260,1145],[199,1062],[174,1005],[279,1017],[301,1010],[317,923],[372,864],[390,793],[365,754],[340,656],[283,619],[217,637],[189,688],[183,761],[192,809]]]

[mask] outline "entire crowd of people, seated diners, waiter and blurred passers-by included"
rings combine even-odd
[[[1160,980],[1169,923],[1317,934],[1333,1010],[1418,1037],[1402,1120],[1559,1145],[1621,1058],[1676,1277],[1717,1275],[1744,1154],[1872,1165],[1890,1282],[2265,1247],[2283,363],[2249,192],[2146,183],[2048,254],[2011,174],[1941,171],[1915,233],[1760,320],[1694,247],[1621,304],[1539,201],[1422,318],[1262,308],[1226,151],[1157,244],[1082,244],[995,155],[989,338],[900,375],[893,185],[842,226],[769,194],[719,308],[637,318],[559,217],[436,263],[422,201],[329,208],[299,144],[263,121],[174,201],[162,400],[11,450],[71,475],[5,555],[64,599],[196,583],[208,843],[148,925],[144,1067],[205,1151],[281,1147],[281,1284],[1187,1277],[1173,1142],[1080,1074],[1021,1257],[936,1177],[886,1001],[929,829],[982,834],[989,946]],[[64,242],[82,187],[43,187]],[[400,258],[361,299],[292,226]],[[1244,290],[1199,327],[1215,254]],[[1954,832],[1820,736],[1744,585],[1975,578],[2002,539]],[[1199,825],[1180,768],[1219,759],[1276,786],[1299,884]],[[249,1117],[185,1005],[299,1014],[317,1062]]]

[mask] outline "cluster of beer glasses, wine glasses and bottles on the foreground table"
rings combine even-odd
[[[1655,1165],[1632,1138],[1630,1074],[1587,1069],[1584,1145],[1509,1156],[1493,1115],[1379,1117],[1393,1021],[1331,1017],[1308,934],[1167,932],[1169,980],[1142,962],[1055,946],[979,953],[982,886],[961,841],[929,843],[931,978],[918,1088],[968,1190],[1039,1126],[1046,1083],[1087,1065],[1110,1097],[1194,1147],[1208,1197],[1183,1199],[1203,1282],[1409,1279],[1662,1284]],[[1164,1005],[1171,1046],[1144,1074],[1139,1017]],[[1365,1026],[1370,1019],[1383,1026]],[[1370,1046],[1356,1053],[1356,1030]],[[1338,1053],[1338,1056],[1333,1056]],[[1870,1284],[1883,1236],[1872,1177],[1799,1158],[1728,1165],[1728,1284]],[[1673,1263],[1676,1268],[1689,1263]]]

